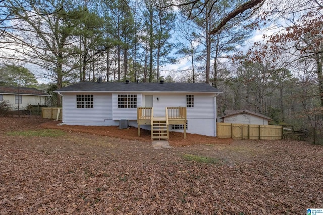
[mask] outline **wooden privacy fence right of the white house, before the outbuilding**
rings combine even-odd
[[[218,138],[282,139],[282,126],[217,123]]]

